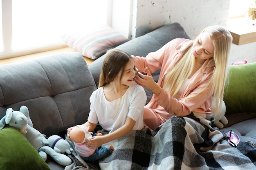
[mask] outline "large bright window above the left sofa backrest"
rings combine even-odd
[[[59,35],[107,24],[109,0],[1,0],[0,59],[63,45]]]

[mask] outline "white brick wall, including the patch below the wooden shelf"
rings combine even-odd
[[[113,2],[118,0],[113,0]],[[230,0],[124,0],[120,8],[127,8],[130,4],[130,18],[119,20],[118,24],[129,23],[130,39],[144,35],[158,26],[166,23],[178,22],[184,28],[191,39],[207,26],[222,25],[227,27],[229,19]],[[125,11],[125,10],[124,10]],[[117,14],[117,13],[116,13]],[[118,14],[125,15],[119,12]],[[125,15],[126,16],[126,15]],[[124,17],[124,18],[127,18]],[[117,20],[116,20],[117,22]],[[115,27],[113,27],[115,29]],[[127,27],[126,27],[127,29]],[[243,61],[256,62],[256,42],[244,45],[231,46],[230,64]]]

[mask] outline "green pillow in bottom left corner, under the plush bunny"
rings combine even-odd
[[[0,170],[50,170],[36,149],[17,129],[0,130]]]

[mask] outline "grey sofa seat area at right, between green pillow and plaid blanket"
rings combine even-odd
[[[235,115],[234,115],[235,116]],[[229,127],[223,128],[224,132],[229,132],[232,130],[235,132],[239,138],[240,141],[252,141],[254,144],[256,144],[256,117],[253,117],[251,119],[247,119],[245,121],[238,122],[236,124],[233,124]]]

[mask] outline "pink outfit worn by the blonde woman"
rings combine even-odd
[[[161,68],[157,84],[163,87],[164,75],[180,60],[184,51],[191,43],[192,40],[188,39],[174,39],[165,44],[161,49],[149,53],[146,57],[133,57],[135,66],[138,68],[139,72],[146,72],[145,68],[148,67],[151,73]],[[213,74],[213,67],[206,68],[208,62],[209,59],[206,60],[202,67],[191,77],[188,85],[181,94],[181,98],[198,94],[198,92],[202,91],[202,89],[207,86]],[[154,129],[174,114],[177,116],[186,116],[189,115],[191,111],[210,114],[211,103],[212,91],[210,88],[206,89],[198,97],[186,100],[177,100],[171,97],[168,91],[162,89],[161,93],[158,96],[153,95],[150,102],[144,107],[144,125]]]

